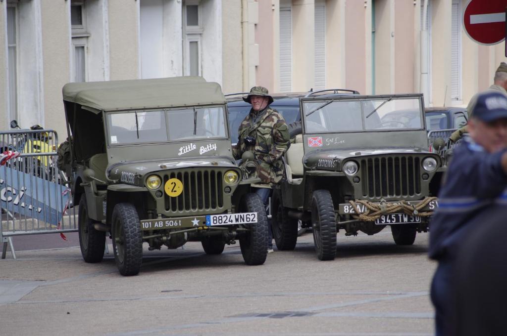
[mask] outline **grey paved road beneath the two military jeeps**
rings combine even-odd
[[[145,246],[134,277],[112,255],[84,263],[79,247],[19,250],[0,260],[0,334],[430,335],[427,239],[339,235],[337,259],[319,262],[306,234],[263,266],[244,265],[238,245]]]

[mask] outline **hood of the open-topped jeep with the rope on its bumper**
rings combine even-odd
[[[376,155],[407,155],[416,154],[436,157],[439,161],[438,155],[428,151],[414,149],[407,147],[394,147],[394,148],[347,148],[347,149],[328,149],[318,150],[307,153],[303,156],[303,164],[310,170],[331,170],[341,171],[342,162],[349,158],[360,159],[368,156]]]

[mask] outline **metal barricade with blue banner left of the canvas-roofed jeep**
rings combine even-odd
[[[0,132],[2,259],[8,244],[16,259],[13,236],[78,231],[70,181],[56,164],[57,148],[53,130]]]

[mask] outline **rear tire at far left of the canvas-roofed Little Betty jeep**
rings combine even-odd
[[[86,195],[83,194],[79,201],[78,229],[81,255],[87,263],[100,263],[104,258],[105,232],[95,230],[95,223],[88,217]]]

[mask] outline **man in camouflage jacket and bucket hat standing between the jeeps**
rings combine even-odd
[[[291,145],[285,119],[269,107],[273,98],[264,87],[253,87],[243,100],[252,105],[239,125],[238,143],[233,150],[236,159],[251,150],[259,163],[259,178],[272,186],[283,177],[282,155]],[[245,141],[246,139],[246,141]]]

